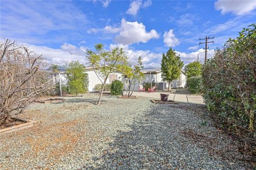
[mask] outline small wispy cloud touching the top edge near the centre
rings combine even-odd
[[[152,5],[151,0],[147,0],[144,3],[142,3],[141,0],[135,0],[130,4],[130,8],[126,11],[126,13],[135,16],[137,15],[141,7],[146,8],[150,5]]]

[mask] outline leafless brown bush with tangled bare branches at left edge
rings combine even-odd
[[[53,87],[42,55],[7,39],[0,42],[0,126],[20,114],[39,94]]]

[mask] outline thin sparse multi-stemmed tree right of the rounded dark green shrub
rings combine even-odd
[[[141,70],[143,69],[141,56],[138,58],[138,63],[132,69],[131,67],[126,67],[124,69],[124,75],[126,76],[126,81],[129,82],[128,89],[126,91],[126,95],[129,97],[132,95],[135,85],[139,84],[143,78],[145,77]],[[133,88],[131,89],[133,85]],[[128,93],[128,94],[127,94]]]

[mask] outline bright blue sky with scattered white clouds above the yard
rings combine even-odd
[[[123,47],[133,64],[159,67],[172,47],[185,63],[203,52],[199,38],[214,36],[209,56],[256,21],[256,1],[2,1],[1,38],[16,40],[49,63],[85,60],[103,43]],[[199,55],[203,61],[204,54]]]

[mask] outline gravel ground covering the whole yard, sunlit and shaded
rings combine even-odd
[[[97,98],[32,104],[19,117],[38,123],[0,136],[0,169],[253,169],[198,105]]]

